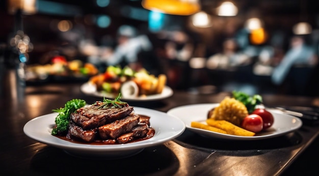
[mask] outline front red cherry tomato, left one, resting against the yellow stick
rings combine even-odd
[[[241,123],[241,126],[251,132],[258,133],[262,130],[262,118],[257,114],[247,115]]]

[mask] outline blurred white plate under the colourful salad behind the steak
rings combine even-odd
[[[81,85],[81,91],[86,95],[91,95],[95,97],[105,97],[109,99],[114,99],[116,96],[113,94],[103,93],[96,91],[96,87],[89,82]],[[122,101],[154,101],[168,98],[173,95],[173,90],[169,86],[165,86],[161,94],[148,95],[146,97],[135,97],[135,98],[125,98],[121,97]]]

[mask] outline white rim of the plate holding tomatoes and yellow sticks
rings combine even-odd
[[[196,106],[210,106],[212,108],[212,107],[218,106],[219,104],[220,103],[200,103],[200,104],[182,105],[182,106],[177,106],[177,107],[169,109],[167,111],[167,113],[170,114],[170,115],[176,116],[177,118],[181,119],[179,116],[177,116],[176,114],[173,114],[172,112],[176,111],[176,110],[179,110],[179,109],[196,107]],[[230,134],[217,133],[217,132],[204,130],[204,129],[199,129],[199,128],[193,128],[193,127],[190,127],[190,124],[186,124],[183,119],[181,119],[181,120],[185,123],[186,129],[191,130],[191,131],[193,131],[195,133],[198,133],[200,135],[204,135],[206,137],[229,139],[229,140],[260,140],[260,139],[274,138],[274,137],[278,137],[278,136],[281,136],[281,135],[284,135],[284,134],[288,134],[288,133],[294,132],[294,131],[298,130],[303,124],[301,119],[296,117],[296,116],[289,115],[289,114],[284,114],[284,113],[279,113],[279,112],[273,111],[273,110],[270,110],[270,111],[273,112],[274,114],[281,114],[281,115],[288,116],[289,118],[296,119],[296,121],[297,121],[296,124],[297,125],[294,126],[294,128],[292,128],[292,129],[290,128],[289,130],[286,130],[286,131],[280,132],[280,133],[275,133],[275,134],[272,133],[272,134],[265,134],[265,135],[258,135],[258,136],[236,136],[236,135],[230,135]],[[202,120],[204,120],[204,119],[206,119],[206,116],[205,117],[197,117],[197,119],[200,119],[200,118]],[[293,119],[291,119],[291,120],[293,120]],[[276,121],[275,121],[275,123],[276,123]]]

